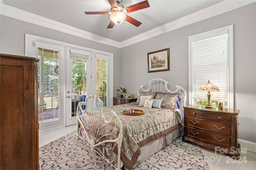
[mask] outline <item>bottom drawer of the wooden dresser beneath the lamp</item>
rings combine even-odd
[[[216,133],[208,133],[198,129],[187,128],[188,136],[195,137],[207,143],[212,143],[216,146],[230,147],[230,137],[219,135]]]

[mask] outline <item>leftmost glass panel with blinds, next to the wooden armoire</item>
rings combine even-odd
[[[60,120],[58,111],[59,51],[37,48],[38,58],[38,121],[45,123]]]

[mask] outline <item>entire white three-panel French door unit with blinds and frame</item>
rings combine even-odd
[[[113,54],[25,34],[25,55],[38,63],[39,131],[76,124],[87,94],[112,105]]]

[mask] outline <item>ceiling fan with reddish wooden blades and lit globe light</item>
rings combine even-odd
[[[144,0],[137,4],[133,4],[128,7],[124,7],[122,4],[122,0],[108,0],[111,5],[111,12],[84,12],[87,15],[90,14],[111,14],[110,15],[110,23],[108,24],[107,28],[113,28],[115,24],[120,24],[124,20],[130,22],[131,24],[135,25],[136,27],[142,24],[140,21],[135,20],[134,18],[128,16],[127,14],[130,12],[142,10],[144,8],[148,8],[150,5],[148,0]]]

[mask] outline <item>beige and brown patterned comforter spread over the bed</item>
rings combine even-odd
[[[123,115],[123,110],[128,107],[131,109],[140,109],[144,111],[144,115],[130,116]],[[170,108],[157,109],[152,107],[146,108],[139,106],[136,103],[123,104],[118,106],[102,107],[103,115],[110,117],[110,111],[115,111],[118,118],[122,122],[123,138],[121,146],[121,160],[124,166],[132,169],[140,155],[139,147],[142,147],[151,140],[154,140],[162,135],[166,135],[175,129],[183,126],[178,111]],[[87,114],[82,114],[81,118],[84,122],[88,120]],[[116,138],[118,137],[118,130],[115,130]],[[102,134],[108,133],[101,131]],[[117,152],[117,147],[112,147],[114,152]]]

